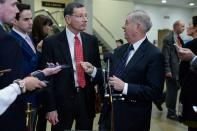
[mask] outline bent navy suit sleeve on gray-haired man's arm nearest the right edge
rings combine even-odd
[[[147,65],[145,81],[138,84],[128,84],[127,95],[139,101],[152,101],[163,91],[164,59],[161,53],[151,56]]]

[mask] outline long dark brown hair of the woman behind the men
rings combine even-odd
[[[37,15],[34,18],[33,26],[32,26],[32,37],[34,38],[34,42],[37,44],[41,40],[43,40],[48,34],[43,32],[43,27],[49,25],[53,25],[53,21],[45,15]]]

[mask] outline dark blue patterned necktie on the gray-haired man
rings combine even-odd
[[[115,73],[114,73],[115,76],[120,77],[122,75],[122,72],[125,69],[126,62],[127,62],[127,59],[129,57],[129,53],[131,50],[134,50],[132,44],[128,46],[127,51],[124,53],[124,56],[122,57],[121,61],[119,62],[118,66],[115,70]]]

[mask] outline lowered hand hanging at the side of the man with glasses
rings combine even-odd
[[[47,119],[52,125],[56,125],[56,124],[59,122],[57,111],[48,112],[47,115],[46,115],[46,119]]]

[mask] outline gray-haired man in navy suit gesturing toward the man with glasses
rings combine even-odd
[[[146,38],[151,25],[144,11],[131,12],[123,26],[128,43],[114,51],[109,84],[123,95],[114,96],[115,131],[150,129],[152,101],[161,95],[164,82],[163,55]],[[95,70],[87,62],[82,66],[87,73]]]

